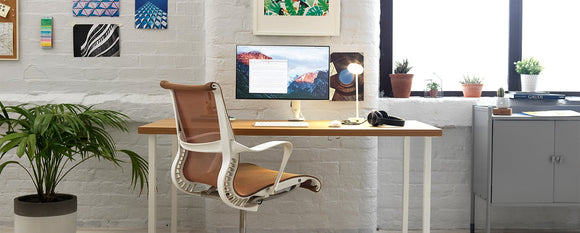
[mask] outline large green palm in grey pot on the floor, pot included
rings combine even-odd
[[[0,174],[8,165],[24,170],[35,194],[14,199],[16,233],[76,232],[76,196],[58,193],[58,185],[89,159],[120,166],[121,152],[131,163],[132,187],[147,184],[147,161],[130,150],[117,150],[108,130],[127,132],[128,117],[112,110],[77,104],[4,106],[0,102]],[[7,155],[14,151],[14,155]],[[2,161],[5,160],[5,161]]]

